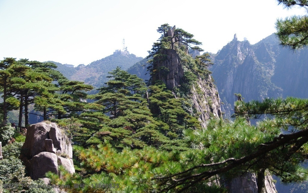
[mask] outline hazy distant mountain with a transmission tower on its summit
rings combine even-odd
[[[127,70],[142,59],[142,57],[137,57],[134,54],[116,50],[110,56],[93,61],[88,65],[80,64],[74,68],[58,62],[51,62],[56,64],[58,66],[57,70],[68,79],[82,81],[99,88],[104,86],[104,83],[107,82],[106,76],[108,76],[108,72],[114,70],[117,66],[121,67],[123,70]]]

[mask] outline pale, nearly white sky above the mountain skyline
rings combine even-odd
[[[217,53],[234,34],[251,44],[276,32],[278,18],[303,15],[277,0],[0,0],[0,60],[90,64],[123,49],[146,57],[165,23]]]

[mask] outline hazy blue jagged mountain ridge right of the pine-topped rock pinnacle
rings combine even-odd
[[[230,111],[235,93],[240,93],[245,101],[308,97],[308,49],[284,48],[275,34],[253,45],[234,37],[212,57],[214,65],[210,70],[226,113],[233,113]]]

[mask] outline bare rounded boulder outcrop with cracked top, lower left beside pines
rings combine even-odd
[[[20,159],[32,179],[44,178],[51,171],[59,174],[58,166],[74,173],[71,143],[55,123],[37,123],[27,129]]]

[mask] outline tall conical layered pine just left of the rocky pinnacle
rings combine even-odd
[[[147,90],[143,80],[120,68],[109,74],[111,79],[106,87],[100,88],[92,98],[98,105],[93,114],[107,114],[110,118],[101,129],[94,129],[98,132],[90,141],[110,140],[117,148],[142,148],[146,144],[158,148],[165,144],[168,138],[159,132],[162,124],[152,118],[143,97]]]

